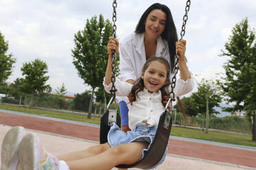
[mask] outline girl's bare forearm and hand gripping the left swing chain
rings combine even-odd
[[[118,53],[119,42],[114,37],[109,37],[109,43],[107,44],[107,52],[109,53],[109,59],[107,60],[107,69],[105,73],[105,84],[109,85],[111,83],[111,76],[112,76],[112,57],[111,57],[111,50],[116,50],[116,54]]]

